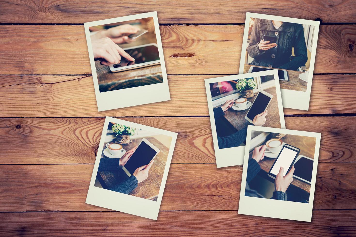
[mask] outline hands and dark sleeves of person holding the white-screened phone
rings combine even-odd
[[[263,158],[265,157],[265,150],[266,145],[255,147],[255,149],[252,151],[252,158],[248,160],[245,196],[265,198],[261,194],[257,193],[256,190],[250,189],[250,186],[248,185],[248,183],[250,183],[252,179],[255,178],[257,173],[261,170],[261,167],[260,165],[258,165],[258,162],[260,160],[263,160]],[[286,174],[285,176],[283,176],[283,172],[284,168],[281,167],[279,169],[279,173],[276,176],[276,179],[274,180],[274,192],[272,199],[287,201],[286,191],[289,187],[289,184],[293,181],[294,166],[292,166],[288,174]]]

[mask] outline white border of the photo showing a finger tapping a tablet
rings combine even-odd
[[[96,74],[94,54],[91,45],[89,27],[105,25],[110,23],[118,23],[122,21],[137,20],[137,19],[142,19],[147,17],[153,17],[153,21],[155,25],[163,82],[157,84],[151,84],[151,85],[114,90],[114,91],[100,92],[98,76]],[[93,74],[93,82],[94,82],[96,104],[98,106],[98,111],[105,111],[110,109],[136,106],[140,104],[149,104],[149,103],[155,103],[161,101],[168,101],[171,99],[171,96],[169,95],[167,72],[166,72],[166,66],[164,64],[161,34],[159,33],[158,18],[157,18],[156,11],[132,15],[132,16],[123,16],[123,17],[111,18],[111,19],[100,20],[100,21],[86,22],[84,23],[84,29],[85,29],[85,36],[87,38],[90,66],[91,66],[91,72]],[[119,73],[120,72],[116,73],[117,76],[119,76]],[[113,101],[123,101],[123,103],[112,103]]]

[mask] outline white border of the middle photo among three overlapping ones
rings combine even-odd
[[[284,123],[282,98],[281,98],[281,92],[279,89],[279,79],[278,79],[277,69],[205,79],[205,90],[206,90],[206,97],[208,99],[211,133],[213,134],[216,166],[218,168],[242,165],[244,163],[245,146],[236,146],[236,147],[219,149],[218,135],[216,132],[216,127],[215,127],[214,106],[213,106],[213,101],[212,101],[211,92],[210,92],[210,84],[214,83],[214,82],[224,82],[224,81],[230,81],[230,80],[239,80],[239,79],[245,79],[245,78],[249,78],[249,77],[261,77],[261,76],[268,76],[268,75],[274,76],[274,86],[276,88],[277,102],[278,102],[278,113],[279,113],[279,119],[281,122],[281,128],[286,128],[286,124]],[[233,99],[233,98],[230,98],[230,99]],[[267,110],[268,110],[268,108],[267,108]],[[244,120],[245,120],[245,118],[244,118]]]

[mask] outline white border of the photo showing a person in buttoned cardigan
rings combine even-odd
[[[311,46],[311,56],[310,56],[310,66],[309,66],[309,76],[308,76],[308,84],[307,84],[307,91],[295,91],[295,90],[287,90],[281,89],[282,95],[282,102],[284,108],[292,108],[292,109],[301,109],[301,110],[308,110],[309,109],[309,100],[310,100],[310,91],[312,90],[312,80],[313,80],[313,73],[314,73],[314,62],[315,62],[315,55],[316,55],[316,46],[318,43],[318,34],[319,34],[319,21],[311,21],[311,20],[302,20],[297,18],[290,18],[290,17],[282,17],[282,16],[272,16],[272,15],[265,15],[265,14],[257,14],[246,12],[246,21],[245,21],[245,29],[244,29],[244,37],[242,40],[242,49],[241,49],[241,59],[240,59],[240,70],[239,73],[244,73],[244,66],[246,61],[246,49],[248,46],[247,38],[248,38],[248,29],[250,19],[252,18],[260,18],[260,19],[267,19],[267,20],[277,20],[283,22],[290,22],[290,23],[298,23],[304,24],[314,27],[313,33],[313,41],[308,41]],[[308,48],[308,45],[307,45]],[[253,66],[253,65],[251,65]],[[301,79],[299,79],[301,80]],[[290,81],[290,80],[289,80]],[[285,82],[288,83],[288,82]],[[295,99],[298,98],[298,99]]]

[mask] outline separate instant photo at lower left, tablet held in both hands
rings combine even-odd
[[[85,203],[157,220],[176,139],[106,117]]]

